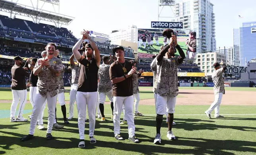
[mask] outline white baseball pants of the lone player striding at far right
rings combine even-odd
[[[221,104],[221,99],[222,99],[223,93],[214,93],[214,94],[215,94],[215,100],[214,100],[214,102],[212,102],[210,108],[208,110],[206,110],[205,113],[211,114],[211,112],[214,110],[215,111],[214,117],[218,117],[219,116],[219,106]]]

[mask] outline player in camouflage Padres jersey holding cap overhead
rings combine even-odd
[[[160,129],[163,122],[163,115],[167,108],[168,112],[168,132],[167,138],[175,140],[172,132],[173,113],[175,112],[176,96],[178,95],[178,65],[182,64],[185,54],[177,43],[177,38],[173,30],[166,29],[163,31],[163,36],[170,39],[170,43],[161,49],[156,56],[157,65],[157,81],[156,81],[156,129],[154,144],[161,144]],[[175,47],[178,49],[179,56],[175,56]],[[154,66],[151,66],[154,67]]]

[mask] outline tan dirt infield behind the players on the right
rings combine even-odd
[[[152,89],[143,89],[152,91]],[[180,89],[179,94],[183,97],[177,98],[176,104],[182,105],[209,105],[214,101],[212,90],[188,90]],[[256,105],[255,92],[253,91],[226,91],[222,97],[221,104],[225,105]],[[140,100],[140,104],[155,104],[154,99]]]

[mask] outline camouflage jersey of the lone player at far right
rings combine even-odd
[[[225,93],[224,91],[224,80],[222,73],[224,72],[223,68],[220,68],[218,70],[214,70],[211,78],[214,83],[213,92],[214,93]]]

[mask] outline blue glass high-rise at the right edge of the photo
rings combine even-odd
[[[233,43],[235,65],[246,66],[256,57],[256,21],[242,23],[242,27],[233,29]]]

